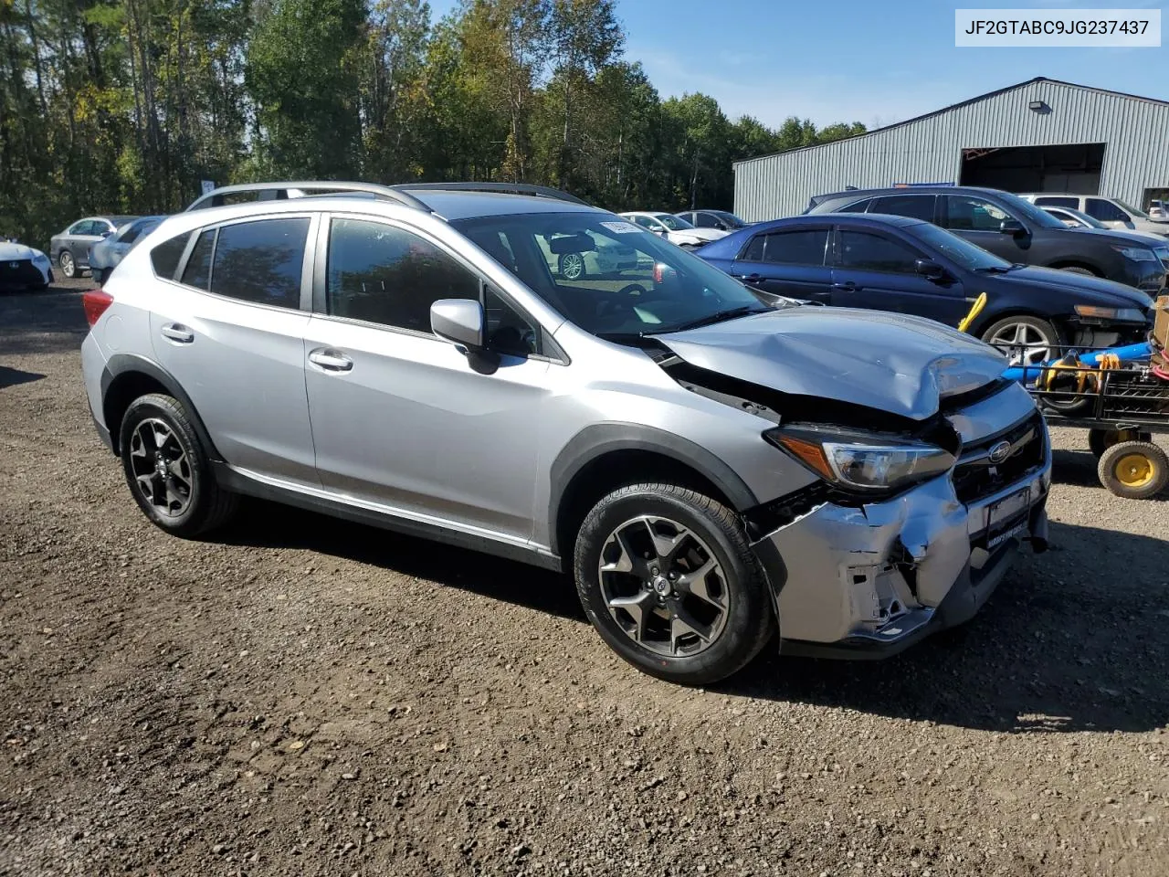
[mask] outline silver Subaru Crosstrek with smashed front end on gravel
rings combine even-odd
[[[530,186],[192,207],[85,295],[82,346],[97,429],[177,536],[250,495],[563,569],[613,649],[692,684],[775,636],[892,654],[1046,544],[1043,419],[938,323],[749,289]],[[599,241],[637,257],[547,256]]]

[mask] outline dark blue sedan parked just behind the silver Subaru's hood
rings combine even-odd
[[[1056,345],[1144,339],[1151,299],[1112,281],[1011,264],[922,220],[825,213],[760,222],[696,255],[765,292],[929,317],[950,326],[982,294],[969,331],[1037,362]]]

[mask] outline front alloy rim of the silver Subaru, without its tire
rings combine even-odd
[[[604,540],[601,595],[617,627],[669,657],[697,655],[726,626],[729,587],[710,546],[676,520],[642,516]]]

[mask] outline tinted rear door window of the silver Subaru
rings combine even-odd
[[[307,234],[307,217],[222,226],[212,261],[210,291],[242,302],[299,308]]]

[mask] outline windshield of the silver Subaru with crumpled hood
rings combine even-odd
[[[787,299],[772,304],[766,294],[611,213],[511,214],[451,225],[566,318],[618,343],[795,306]]]

